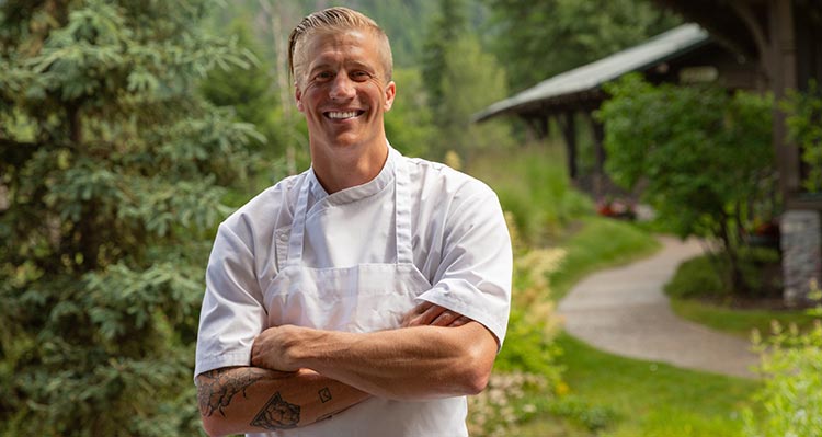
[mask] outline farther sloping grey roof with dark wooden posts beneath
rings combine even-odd
[[[553,119],[564,139],[569,175],[578,186],[598,198],[609,194],[614,187],[603,171],[603,128],[591,114],[608,97],[602,85],[629,72],[640,72],[653,83],[720,81],[734,89],[763,85],[763,78],[744,56],[738,56],[718,44],[699,25],[684,24],[496,102],[476,114],[475,120],[515,115],[523,118],[532,133],[541,139],[548,136],[548,127]],[[578,119],[586,120],[592,129],[595,156],[593,174],[580,172]]]

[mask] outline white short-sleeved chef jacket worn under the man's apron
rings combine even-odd
[[[502,344],[512,255],[495,194],[468,175],[404,158],[389,147],[384,169],[363,185],[329,195],[309,169],[266,189],[220,225],[206,274],[195,375],[250,365],[254,337],[269,327],[269,312],[277,311],[266,308],[272,300],[265,295],[288,256],[290,228],[304,187],[308,210],[302,264],[332,268],[397,261],[397,165],[402,165],[410,181],[411,205],[406,209],[410,211],[413,265],[432,285],[416,297],[418,302],[426,300],[476,320]],[[328,222],[312,221],[329,208],[340,208],[334,212],[351,220],[340,220],[338,230],[329,232]],[[320,228],[322,232],[312,232]],[[460,414],[465,415],[465,409]]]

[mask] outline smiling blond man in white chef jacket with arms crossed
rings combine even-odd
[[[209,435],[460,436],[511,288],[496,196],[390,148],[391,51],[331,8],[294,30],[311,169],[220,225],[196,382]],[[269,433],[269,434],[266,434]]]

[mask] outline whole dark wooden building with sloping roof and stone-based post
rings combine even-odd
[[[574,114],[591,114],[607,96],[602,84],[638,71],[651,82],[716,80],[728,88],[773,92],[822,85],[822,0],[654,0],[696,24],[685,24],[644,44],[547,79],[477,114],[481,122],[516,115],[544,137],[553,118],[568,149],[569,173],[579,179]],[[591,117],[587,117],[591,119]],[[596,149],[593,194],[603,194],[606,159],[603,129],[591,119]],[[785,114],[774,111],[774,150],[785,203],[780,218],[785,300],[807,302],[812,281],[822,283],[822,194],[802,187],[808,169],[787,139]]]

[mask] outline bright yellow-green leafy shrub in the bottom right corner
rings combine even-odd
[[[754,400],[764,414],[745,411],[750,437],[822,436],[822,321],[809,332],[775,323],[772,336],[754,338],[764,387]]]

